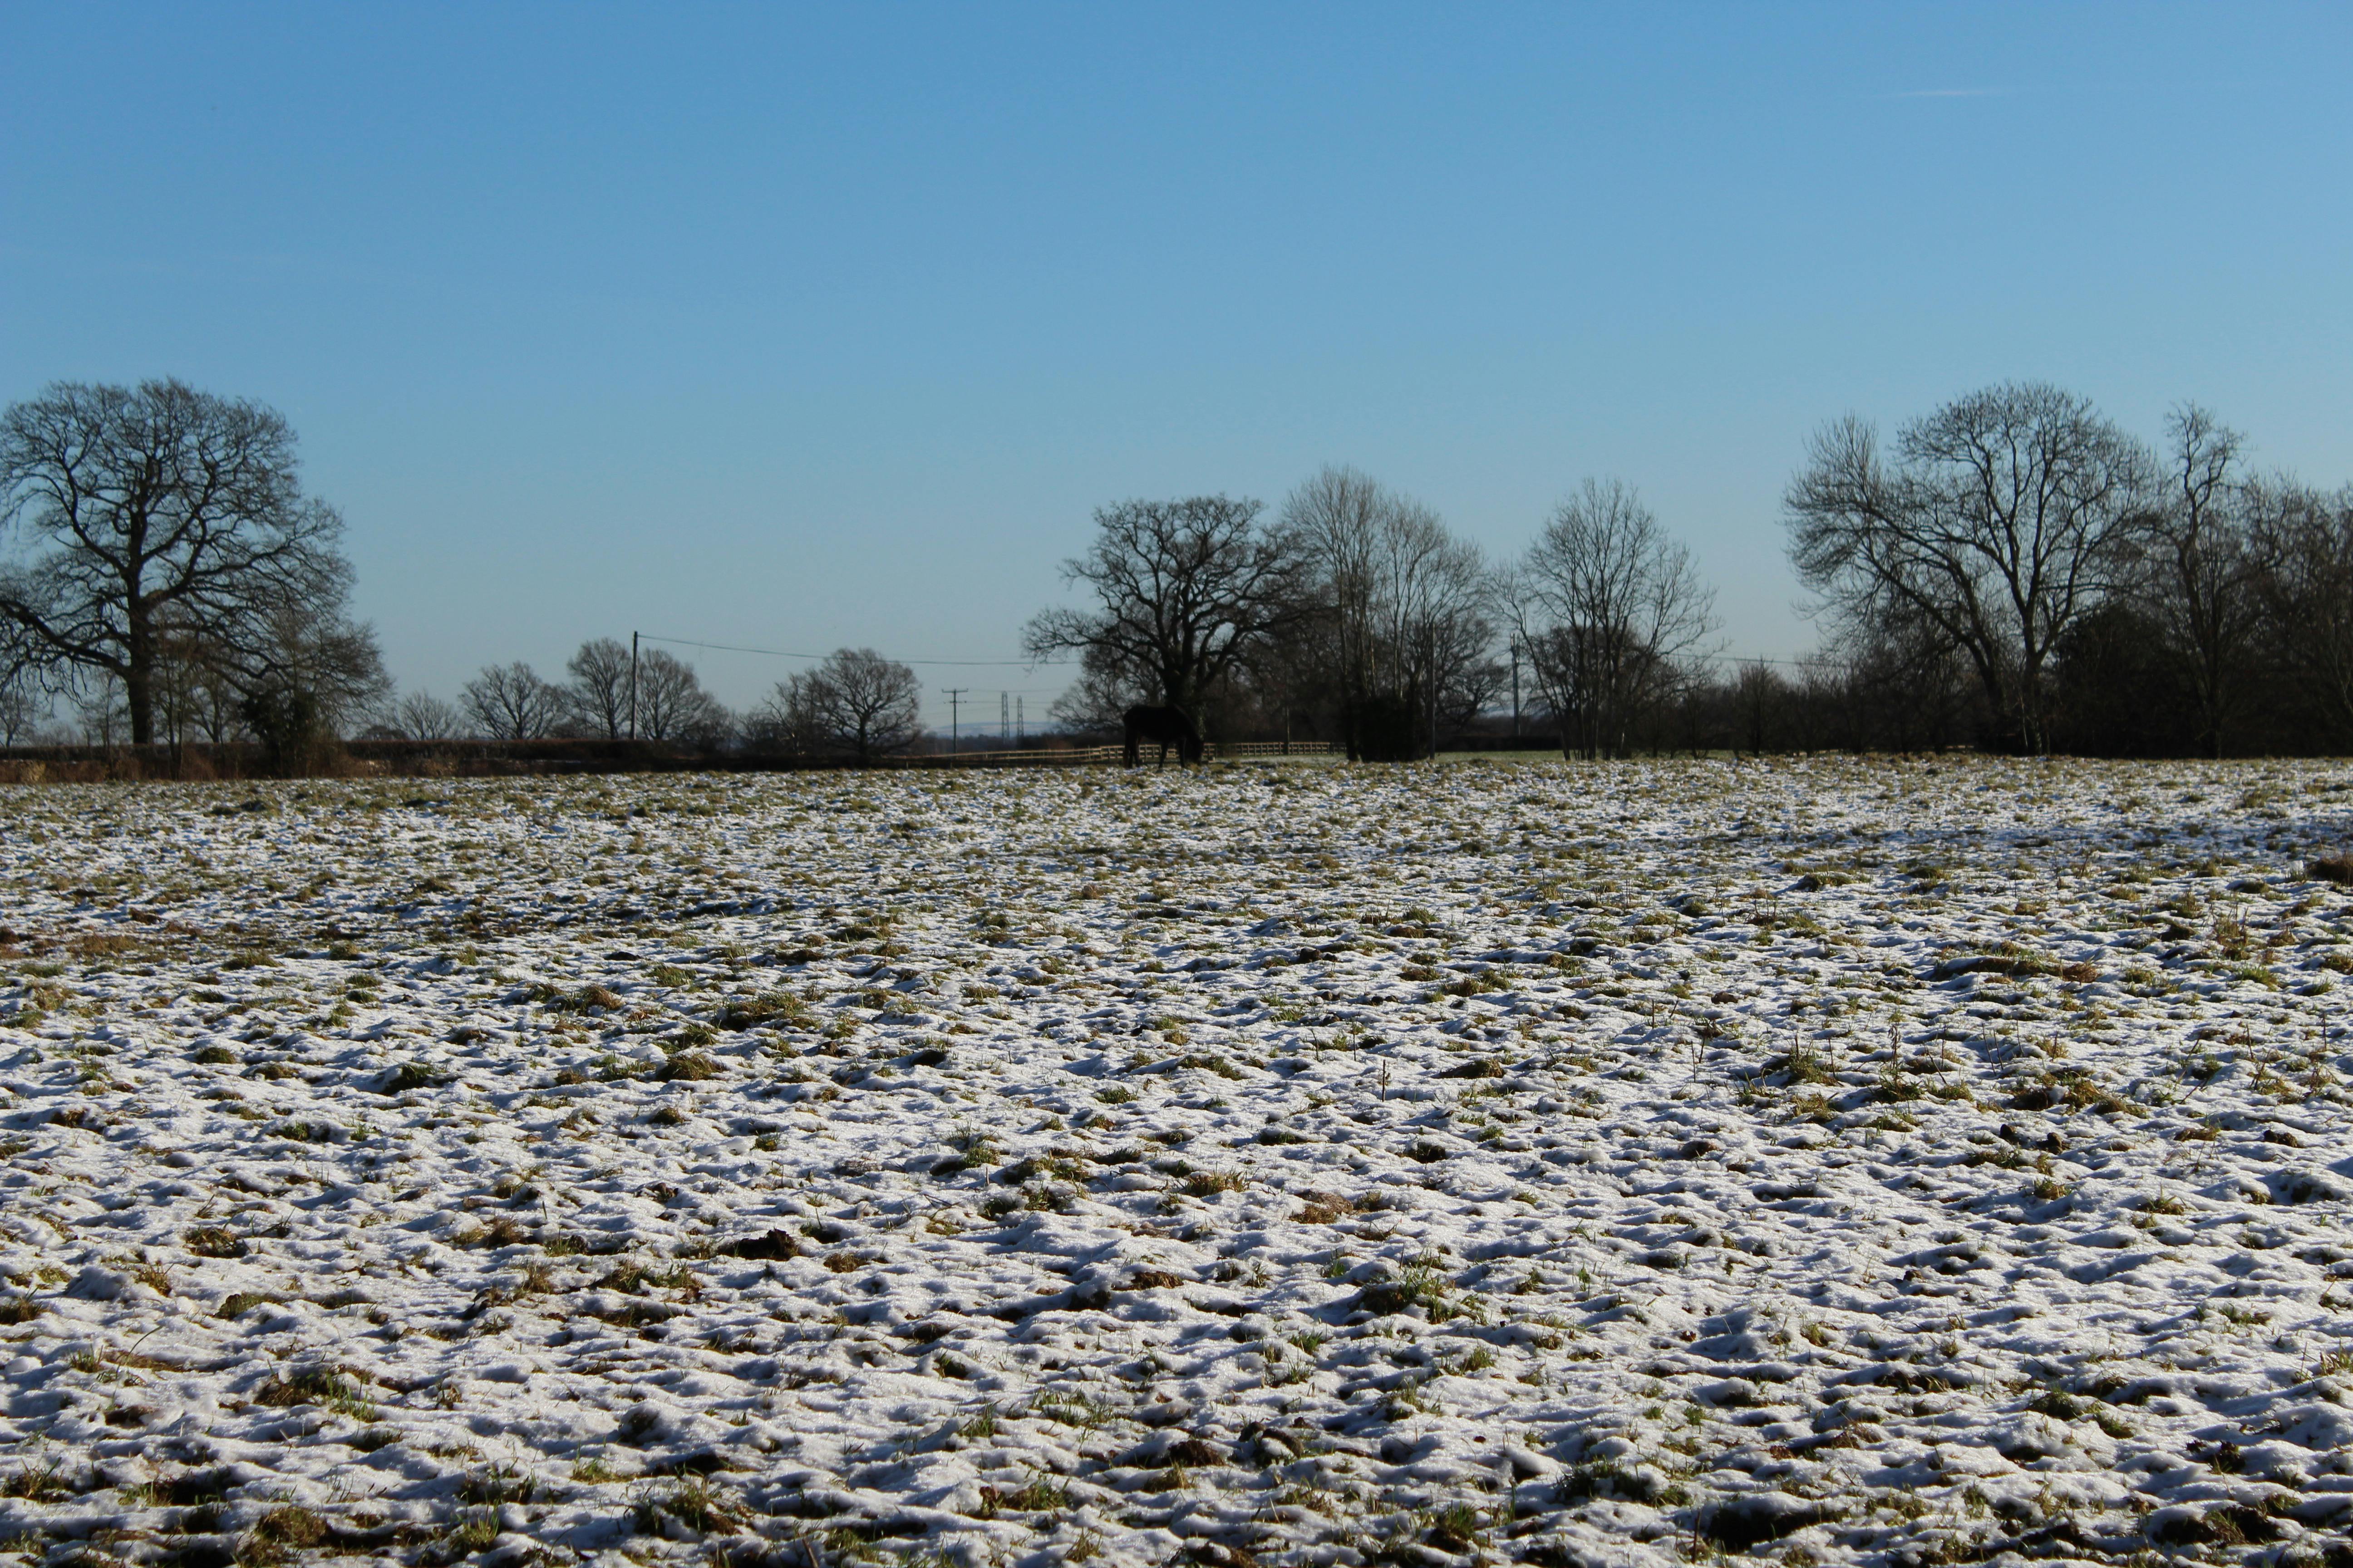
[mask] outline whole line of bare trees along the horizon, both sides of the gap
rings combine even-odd
[[[104,743],[638,736],[871,762],[925,741],[908,665],[840,649],[729,712],[666,649],[395,693],[351,611],[341,517],[275,411],[179,381],[59,383],[0,414],[0,743],[56,703]],[[1421,501],[1325,468],[1278,510],[1122,501],[1064,564],[1089,602],[1024,628],[1075,658],[1052,717],[1115,733],[1184,708],[1209,738],[1409,759],[1508,726],[1569,757],[1673,750],[2238,755],[2353,745],[2353,487],[2252,470],[2184,404],[2144,444],[2087,400],[2005,383],[1901,425],[1824,425],[1784,494],[1826,637],[1727,658],[1694,555],[1584,480],[1489,562]],[[1508,715],[1508,717],[1506,717]]]

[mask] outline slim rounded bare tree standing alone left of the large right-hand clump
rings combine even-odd
[[[1633,487],[1586,480],[1508,588],[1537,691],[1569,757],[1624,757],[1715,632],[1715,592]]]

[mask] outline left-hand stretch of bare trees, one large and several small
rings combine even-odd
[[[344,520],[301,489],[294,433],[181,381],[56,383],[0,414],[0,745],[56,703],[99,745],[259,743],[313,771],[341,738],[555,736],[868,762],[920,733],[915,672],[840,649],[732,715],[666,649],[595,637],[565,682],[487,665],[456,703],[400,696],[353,621]],[[54,736],[52,736],[54,738]]]

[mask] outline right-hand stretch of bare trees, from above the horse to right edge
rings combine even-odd
[[[1795,665],[1727,658],[1713,590],[1619,480],[1586,480],[1511,562],[1327,468],[1282,508],[1101,508],[1035,616],[1056,705],[1169,703],[1219,733],[1405,759],[1520,729],[1569,757],[1941,750],[2224,757],[2353,748],[2353,487],[2257,473],[2181,404],[2158,444],[2047,383],[1958,397],[1882,442],[1824,425],[1784,494],[1824,623]]]

